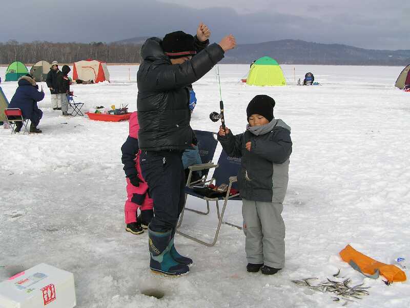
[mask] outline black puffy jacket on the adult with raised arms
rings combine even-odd
[[[197,39],[196,47],[203,48]],[[142,150],[183,151],[191,145],[195,137],[187,87],[210,71],[223,53],[218,44],[211,44],[190,61],[172,65],[159,38],[145,42],[137,73],[138,142]]]

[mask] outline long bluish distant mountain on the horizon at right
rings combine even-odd
[[[273,57],[279,64],[406,65],[410,63],[410,50],[373,50],[300,40],[238,45],[237,48],[227,52],[223,63],[252,63],[264,55]]]

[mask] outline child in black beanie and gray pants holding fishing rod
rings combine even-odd
[[[231,157],[241,157],[238,173],[248,272],[272,275],[285,262],[285,225],[281,216],[288,188],[291,128],[273,117],[275,101],[256,95],[247,107],[245,132],[234,136],[222,126],[218,140]]]

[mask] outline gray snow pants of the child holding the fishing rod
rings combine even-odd
[[[285,265],[285,224],[279,202],[242,199],[243,231],[248,263],[274,268]]]

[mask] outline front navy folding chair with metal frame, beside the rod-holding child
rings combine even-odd
[[[201,165],[194,165],[194,166],[191,166],[191,167],[192,167],[192,169],[198,169],[199,166],[201,166]],[[222,150],[217,165],[203,166],[203,168],[204,169],[206,169],[206,168],[208,168],[208,169],[209,168],[216,168],[215,171],[214,171],[213,178],[210,181],[210,184],[215,183],[216,186],[220,186],[221,184],[228,184],[227,191],[224,192],[223,195],[220,196],[220,197],[209,198],[209,197],[204,197],[204,196],[198,194],[197,192],[194,191],[194,188],[187,186],[185,188],[185,192],[186,192],[185,203],[187,203],[187,196],[188,195],[196,197],[196,198],[200,198],[200,199],[203,199],[203,200],[206,200],[208,206],[209,206],[209,201],[215,201],[216,211],[217,211],[217,216],[218,216],[218,227],[216,229],[214,240],[211,243],[204,242],[204,241],[202,241],[198,238],[195,238],[193,236],[190,236],[186,233],[181,232],[179,229],[177,230],[177,233],[182,235],[182,236],[185,236],[185,237],[187,237],[191,240],[194,240],[194,241],[196,241],[200,244],[203,244],[203,245],[206,245],[206,246],[213,246],[213,245],[215,245],[215,243],[218,239],[219,229],[220,229],[222,223],[228,224],[228,225],[231,225],[231,226],[235,226],[239,229],[242,229],[241,226],[237,226],[237,225],[234,225],[234,224],[227,223],[227,222],[223,221],[223,215],[225,213],[225,209],[227,207],[228,200],[241,200],[241,198],[239,197],[239,192],[238,192],[238,189],[237,189],[237,180],[236,180],[236,176],[237,176],[239,168],[240,168],[240,159],[239,158],[228,157],[227,153],[224,150]],[[233,190],[233,191],[231,191],[231,190]],[[219,212],[219,200],[223,200],[223,206],[222,206],[222,210],[220,212]],[[180,227],[180,225],[182,223],[183,213],[184,213],[184,209],[182,209],[182,213],[181,213],[180,218],[179,218],[179,222],[178,222],[178,226],[177,226],[178,228]]]

